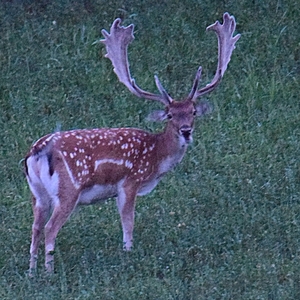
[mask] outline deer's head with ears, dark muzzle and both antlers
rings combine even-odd
[[[102,30],[105,37],[101,42],[105,45],[107,54],[113,64],[114,72],[117,74],[119,81],[122,82],[135,96],[145,98],[147,100],[155,100],[161,102],[165,106],[164,111],[155,111],[148,119],[154,121],[169,120],[167,130],[172,130],[177,136],[187,143],[192,141],[192,132],[194,118],[203,116],[211,111],[211,107],[206,102],[197,103],[197,99],[211,91],[213,91],[220,83],[230,61],[235,43],[240,38],[237,34],[233,36],[236,28],[236,22],[233,16],[225,13],[223,16],[223,24],[218,21],[207,27],[208,31],[214,31],[218,37],[218,65],[215,76],[211,83],[205,87],[198,89],[201,78],[202,68],[199,67],[191,92],[183,101],[175,101],[163,88],[158,77],[155,75],[155,83],[159,94],[153,94],[142,90],[135,83],[130,75],[129,62],[127,55],[128,45],[133,41],[134,25],[127,27],[120,26],[121,20],[116,19],[110,29],[110,33]]]

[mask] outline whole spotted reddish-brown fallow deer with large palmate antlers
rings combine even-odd
[[[201,67],[192,90],[183,101],[175,101],[155,76],[159,94],[139,88],[130,75],[128,45],[134,39],[134,26],[120,26],[116,19],[110,33],[102,30],[108,57],[114,71],[134,95],[161,102],[164,111],[155,112],[155,120],[167,120],[162,133],[141,129],[82,129],[55,132],[33,144],[25,159],[26,177],[32,192],[34,222],[30,247],[30,270],[36,270],[38,247],[44,231],[45,267],[54,270],[56,236],[77,205],[116,197],[121,216],[124,249],[132,247],[134,207],[137,196],[146,195],[164,174],[183,158],[192,141],[194,118],[209,112],[207,103],[197,98],[211,92],[219,84],[235,43],[236,22],[225,13],[223,24],[216,21],[207,27],[217,34],[218,65],[211,83],[198,89]]]

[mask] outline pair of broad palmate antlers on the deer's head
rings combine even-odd
[[[133,41],[133,29],[134,25],[131,24],[127,27],[120,26],[121,20],[116,19],[110,29],[110,33],[106,30],[102,30],[104,40],[102,43],[106,46],[107,54],[105,57],[109,58],[114,66],[114,72],[117,74],[119,81],[125,84],[125,86],[137,97],[145,98],[148,100],[155,100],[168,106],[173,99],[162,87],[159,79],[155,76],[155,82],[160,94],[153,94],[146,92],[139,88],[135,80],[130,75],[129,62],[127,55],[128,45]],[[232,51],[235,48],[235,43],[240,38],[240,34],[233,36],[236,27],[236,22],[233,16],[228,13],[223,15],[223,24],[218,21],[207,27],[206,30],[213,30],[218,37],[218,66],[216,74],[211,81],[204,88],[198,90],[198,85],[201,77],[202,68],[199,67],[196,77],[194,79],[193,87],[189,93],[187,100],[195,101],[198,97],[203,96],[213,91],[219,82],[221,81],[227,65],[230,61]]]

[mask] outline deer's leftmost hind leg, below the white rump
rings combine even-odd
[[[30,245],[29,273],[32,275],[37,268],[38,249],[41,241],[43,229],[50,212],[49,205],[37,205],[36,198],[32,199],[34,221],[32,224],[32,237]]]

